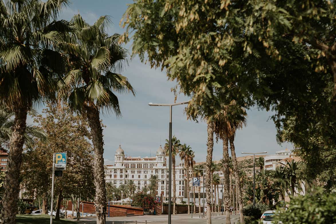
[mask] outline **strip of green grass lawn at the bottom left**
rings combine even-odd
[[[50,216],[48,215],[17,215],[16,216],[16,224],[49,224]],[[52,223],[55,224],[70,224],[74,223],[70,220],[60,219],[55,220],[52,219]]]

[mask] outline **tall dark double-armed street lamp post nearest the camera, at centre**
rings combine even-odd
[[[168,224],[171,224],[171,132],[172,108],[176,105],[188,104],[190,100],[179,103],[149,103],[150,106],[169,106],[169,185],[168,185]]]

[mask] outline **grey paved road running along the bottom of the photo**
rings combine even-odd
[[[237,224],[239,215],[231,215],[231,223]],[[110,217],[106,218],[107,224],[135,224],[135,221],[139,224],[144,224],[145,221],[149,224],[167,224],[168,223],[168,215],[156,215],[156,216],[132,216],[132,217]],[[212,217],[212,224],[224,224],[225,223],[225,215],[221,216],[217,214],[217,216]],[[92,224],[96,223],[95,218],[85,218],[80,221],[80,224]],[[193,215],[193,219],[191,215],[188,214],[179,214],[171,217],[172,224],[204,224],[206,223],[206,218],[199,218],[199,215]]]

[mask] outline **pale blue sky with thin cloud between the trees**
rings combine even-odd
[[[89,23],[93,24],[101,15],[112,16],[113,25],[109,33],[122,34],[124,30],[119,27],[119,21],[132,1],[126,0],[72,0],[71,4],[61,14],[60,18],[70,20],[78,12]],[[131,51],[131,45],[126,46]],[[165,72],[151,69],[148,64],[143,64],[138,57],[130,60],[129,67],[123,75],[136,90],[136,96],[120,95],[122,118],[116,119],[114,114],[105,114],[101,117],[107,128],[104,134],[104,158],[106,164],[112,164],[114,153],[121,144],[125,154],[146,156],[155,154],[168,138],[169,109],[166,107],[150,107],[149,102],[169,103],[174,101],[170,88],[174,82],[167,81]],[[179,96],[179,100],[187,100]],[[205,161],[206,157],[206,124],[186,120],[183,112],[184,106],[173,108],[173,134],[182,143],[190,145],[195,151],[197,162]],[[268,154],[283,149],[276,141],[274,123],[269,120],[270,112],[253,109],[248,111],[248,124],[243,130],[237,132],[236,153],[241,156],[242,151],[268,151]],[[288,148],[292,146],[287,144]],[[222,143],[214,145],[214,160],[222,156]]]

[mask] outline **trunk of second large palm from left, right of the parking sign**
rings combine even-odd
[[[97,224],[106,223],[106,188],[104,180],[103,137],[99,119],[99,110],[95,105],[86,106],[87,118],[91,128],[94,148],[94,183],[96,195],[94,198]]]

